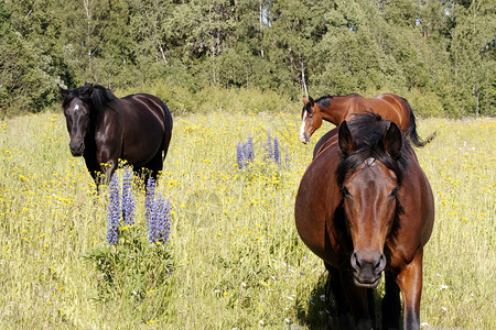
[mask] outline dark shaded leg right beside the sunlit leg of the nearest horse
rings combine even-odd
[[[382,329],[399,329],[399,318],[401,315],[401,301],[399,287],[395,283],[395,276],[390,272],[385,272],[386,295],[382,299]]]

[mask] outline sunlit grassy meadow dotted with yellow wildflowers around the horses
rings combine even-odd
[[[313,145],[299,114],[176,117],[159,190],[173,205],[169,243],[136,224],[107,244],[107,194],[71,156],[62,113],[0,122],[1,329],[323,328],[325,271],[301,242],[293,205]],[[419,120],[418,150],[436,217],[424,253],[422,327],[496,328],[496,120]],[[265,160],[268,131],[282,165]],[[255,164],[239,169],[238,141]],[[289,160],[289,163],[285,160]],[[379,286],[379,292],[381,285]]]

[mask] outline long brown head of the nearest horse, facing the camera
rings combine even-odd
[[[337,182],[353,241],[354,282],[370,288],[378,285],[386,267],[384,246],[400,209],[397,191],[401,180],[397,166],[402,147],[401,131],[391,122],[376,135],[379,136],[375,141],[368,136],[360,141],[362,136],[354,136],[346,121],[338,130],[343,157],[337,172],[344,173],[341,177],[337,173]]]

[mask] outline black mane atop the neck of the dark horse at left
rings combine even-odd
[[[89,103],[91,111],[100,112],[109,107],[109,103],[117,99],[117,97],[101,85],[94,85],[91,96],[88,98],[84,94],[89,88],[90,84],[85,82],[84,86],[69,89],[66,97],[62,100],[62,107],[67,107],[74,98],[79,98]]]

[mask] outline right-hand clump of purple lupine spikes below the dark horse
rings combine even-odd
[[[145,217],[149,228],[148,240],[153,244],[166,244],[172,221],[171,200],[164,200],[161,194],[154,196],[155,182],[149,178],[147,183]]]

